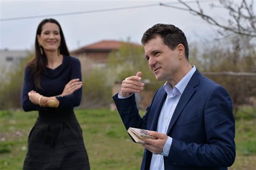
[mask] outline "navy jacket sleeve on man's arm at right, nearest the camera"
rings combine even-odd
[[[228,167],[235,159],[235,126],[232,103],[226,90],[217,86],[204,112],[206,143],[173,139],[167,162],[187,167]]]

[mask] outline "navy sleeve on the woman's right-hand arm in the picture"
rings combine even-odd
[[[72,58],[70,66],[70,80],[79,78],[82,81],[81,64],[79,59]],[[82,88],[76,90],[72,94],[56,97],[59,100],[59,108],[77,107],[82,100]]]

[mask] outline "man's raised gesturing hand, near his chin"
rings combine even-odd
[[[142,79],[142,72],[137,72],[136,76],[131,76],[122,81],[121,96],[128,97],[132,93],[143,90],[144,83],[139,82]]]

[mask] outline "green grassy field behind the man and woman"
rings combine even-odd
[[[248,110],[255,114],[255,110]],[[143,147],[127,135],[117,111],[76,110],[91,169],[139,169]],[[237,157],[229,169],[256,167],[256,119],[237,114]],[[29,131],[37,112],[0,111],[0,169],[22,169]]]

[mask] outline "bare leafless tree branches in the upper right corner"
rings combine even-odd
[[[185,8],[180,8],[164,3],[160,3],[160,5],[190,11],[192,15],[200,16],[207,23],[215,25],[221,29],[235,33],[237,35],[249,36],[253,38],[256,37],[256,16],[254,13],[254,10],[256,8],[254,6],[253,0],[241,0],[238,3],[237,1],[231,0],[219,0],[218,5],[212,3],[212,8],[224,8],[228,10],[230,17],[224,23],[221,23],[217,21],[217,19],[214,19],[212,16],[207,15],[203,8],[201,8],[200,3],[202,3],[202,1],[196,1],[197,9],[192,8],[191,5],[188,5],[188,2],[184,2],[182,0],[178,0],[178,2],[183,4]],[[224,33],[221,31],[219,31],[219,33],[224,35]]]

